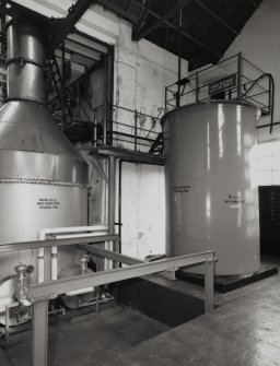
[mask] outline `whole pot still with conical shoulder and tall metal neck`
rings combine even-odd
[[[21,17],[7,27],[8,102],[0,109],[1,244],[37,240],[46,227],[88,224],[88,164],[45,104],[44,29]],[[70,247],[59,248],[58,271],[74,257]],[[1,253],[0,279],[14,274],[19,262],[36,267],[36,251]],[[46,263],[46,280],[49,268]]]

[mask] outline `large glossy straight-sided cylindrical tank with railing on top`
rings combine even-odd
[[[259,270],[256,119],[254,106],[225,101],[163,117],[168,257],[213,249],[218,275]]]

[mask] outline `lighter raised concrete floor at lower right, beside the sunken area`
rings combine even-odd
[[[105,365],[279,366],[280,276],[248,287]]]

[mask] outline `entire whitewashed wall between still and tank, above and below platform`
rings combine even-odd
[[[47,16],[66,16],[72,0],[18,0],[24,7]],[[158,116],[164,107],[164,87],[176,81],[177,57],[145,39],[131,42],[131,24],[100,5],[92,5],[78,22],[77,28],[115,46],[114,104]],[[183,61],[182,76],[187,75],[188,62]],[[133,115],[116,108],[114,119],[133,126]],[[139,117],[139,126],[150,130],[152,120]],[[132,128],[115,128],[133,132]],[[153,126],[160,131],[160,123]],[[145,131],[142,132],[147,134]],[[116,145],[128,146],[118,141]],[[130,144],[131,146],[131,144]],[[138,146],[147,151],[148,147]],[[165,248],[165,194],[162,167],[130,165],[124,168],[124,229],[125,253],[143,258],[162,253]],[[93,192],[93,198],[96,197]],[[135,199],[137,198],[137,199]],[[95,217],[96,219],[96,217]]]

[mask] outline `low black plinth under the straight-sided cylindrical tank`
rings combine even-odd
[[[261,264],[258,272],[244,275],[217,275],[214,278],[214,290],[219,293],[229,293],[230,291],[246,286],[250,283],[267,279],[278,273],[276,267]],[[191,283],[205,285],[205,275],[197,273],[189,273],[186,270],[178,270],[176,278]]]

